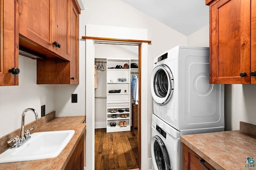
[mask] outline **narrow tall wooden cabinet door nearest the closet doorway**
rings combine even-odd
[[[70,12],[70,84],[79,84],[79,14],[71,1]]]

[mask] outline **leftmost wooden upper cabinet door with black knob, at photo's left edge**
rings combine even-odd
[[[14,0],[0,1],[0,86],[18,85],[18,75],[8,70],[18,67],[19,4]]]

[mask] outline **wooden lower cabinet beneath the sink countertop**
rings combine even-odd
[[[83,170],[84,169],[84,134],[80,138],[65,170]]]

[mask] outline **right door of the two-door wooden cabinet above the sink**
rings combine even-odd
[[[69,51],[69,14],[70,0],[55,0],[54,5],[54,37],[53,42],[58,42],[60,47],[54,46],[54,52],[70,60]]]

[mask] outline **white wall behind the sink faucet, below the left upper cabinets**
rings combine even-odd
[[[19,56],[19,85],[0,87],[0,137],[20,128],[22,112],[36,109],[41,117],[41,106],[46,105],[46,114],[54,111],[54,85],[36,84],[36,60]],[[35,120],[27,112],[25,124]]]

